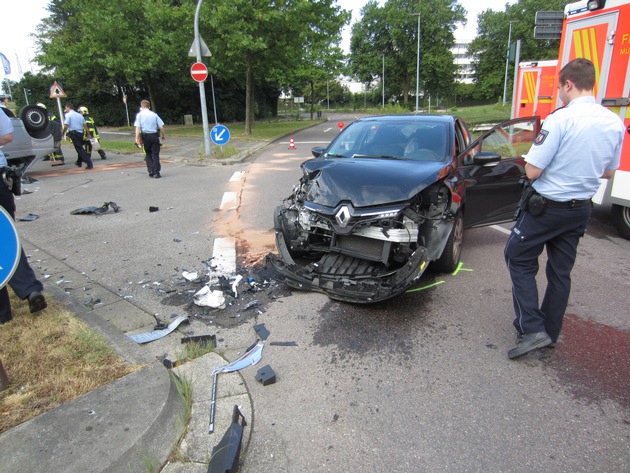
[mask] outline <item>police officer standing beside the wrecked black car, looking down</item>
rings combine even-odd
[[[508,239],[505,261],[519,334],[508,358],[555,347],[571,289],[577,245],[591,215],[599,179],[619,167],[624,126],[593,97],[595,67],[584,58],[560,70],[559,95],[567,104],[549,115],[525,157],[534,193]],[[547,289],[538,303],[538,257],[547,249]]]

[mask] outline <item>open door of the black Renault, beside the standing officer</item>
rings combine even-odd
[[[523,156],[539,129],[539,117],[501,123],[484,132],[457,158],[464,184],[465,227],[512,219],[525,176]]]

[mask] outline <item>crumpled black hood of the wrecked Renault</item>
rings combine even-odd
[[[411,199],[436,182],[447,166],[400,159],[318,158],[304,162],[302,169],[309,176],[308,201],[336,207],[349,200],[355,207],[371,207]]]

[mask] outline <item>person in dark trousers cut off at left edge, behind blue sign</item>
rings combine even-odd
[[[0,147],[13,141],[13,125],[9,117],[0,112]],[[20,177],[8,167],[7,158],[0,148],[0,205],[15,220],[15,199],[13,198],[14,185],[9,184]],[[9,285],[17,296],[28,299],[31,313],[39,312],[46,308],[46,298],[42,294],[43,284],[35,277],[33,269],[28,264],[24,250],[21,250],[20,261],[9,280]],[[6,286],[0,289],[0,324],[9,322],[13,318],[11,314],[11,299]]]

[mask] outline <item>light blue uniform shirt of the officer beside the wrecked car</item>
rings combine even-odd
[[[533,186],[560,202],[595,195],[599,178],[619,167],[621,119],[595,98],[578,97],[547,117],[525,161],[543,172]]]

